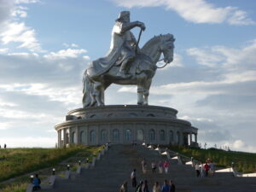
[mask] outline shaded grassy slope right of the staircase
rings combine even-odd
[[[238,172],[256,172],[256,154],[224,151],[216,148],[202,149],[172,146],[170,149],[202,162],[205,162],[209,158],[213,160],[216,166],[230,167],[231,163],[234,162],[234,166]]]

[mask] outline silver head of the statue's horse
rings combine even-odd
[[[172,34],[166,34],[160,36],[160,51],[164,55],[164,61],[166,63],[170,63],[173,60],[173,49],[174,49],[174,41]]]

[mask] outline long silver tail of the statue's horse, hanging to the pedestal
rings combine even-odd
[[[89,107],[92,97],[91,91],[93,90],[93,82],[89,79],[87,70],[84,71],[83,75],[83,108]]]

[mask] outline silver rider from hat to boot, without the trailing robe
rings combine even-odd
[[[112,31],[110,50],[119,50],[119,59],[117,64],[121,63],[121,67],[118,76],[127,79],[131,77],[129,68],[131,61],[136,56],[135,48],[137,45],[137,40],[130,30],[139,26],[144,31],[146,27],[144,23],[140,21],[130,22],[129,11],[122,11],[119,14],[119,18],[115,21]]]

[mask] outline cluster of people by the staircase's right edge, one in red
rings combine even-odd
[[[199,162],[195,164],[196,177],[213,177],[214,172],[214,164],[210,159],[207,159],[205,164]]]

